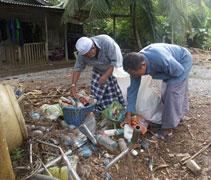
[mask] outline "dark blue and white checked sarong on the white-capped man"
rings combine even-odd
[[[93,98],[97,100],[95,112],[101,113],[113,101],[118,101],[125,108],[126,106],[123,99],[123,95],[116,78],[113,75],[110,75],[107,82],[104,85],[100,85],[100,77],[100,73],[93,71],[91,82],[91,94]]]

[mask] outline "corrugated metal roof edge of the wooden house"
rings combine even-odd
[[[13,4],[13,5],[20,5],[20,6],[31,6],[31,7],[37,7],[37,8],[48,8],[48,9],[58,9],[58,10],[64,10],[64,8],[57,7],[57,6],[44,6],[44,5],[38,5],[38,4],[32,4],[32,3],[26,3],[26,2],[20,2],[15,0],[0,0],[0,3],[5,4]]]

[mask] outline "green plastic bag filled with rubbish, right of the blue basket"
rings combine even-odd
[[[125,109],[119,102],[114,101],[102,112],[102,117],[120,123],[125,117]]]

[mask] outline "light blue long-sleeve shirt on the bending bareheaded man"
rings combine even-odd
[[[167,84],[181,82],[187,78],[192,67],[190,52],[177,45],[155,43],[140,51],[146,60],[146,73],[153,79],[161,79]],[[137,94],[141,76],[130,76],[130,86],[127,89],[127,112],[136,111]]]

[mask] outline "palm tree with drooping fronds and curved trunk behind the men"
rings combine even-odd
[[[65,7],[63,21],[67,22],[71,18],[77,23],[83,23],[96,18],[111,17],[115,11],[114,9],[118,8],[126,10],[127,14],[130,13],[134,37],[138,49],[142,49],[140,29],[147,27],[147,29],[150,29],[148,32],[152,32],[152,35],[155,36],[155,18],[153,16],[152,1],[150,0],[71,0]],[[144,12],[142,15],[145,17],[142,19],[145,20],[145,24],[137,22],[137,17],[140,16],[137,9]]]

